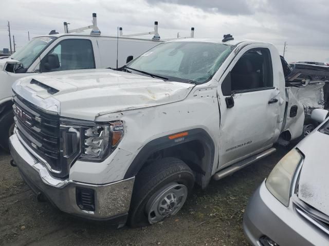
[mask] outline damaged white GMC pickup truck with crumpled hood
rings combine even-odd
[[[13,85],[12,165],[60,210],[119,226],[176,214],[302,134],[304,109],[267,43],[177,39],[123,66]]]

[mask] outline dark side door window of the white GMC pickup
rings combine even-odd
[[[247,51],[237,61],[228,76],[230,76],[230,79],[225,79],[224,82],[227,84],[230,80],[231,94],[272,88],[273,72],[269,50],[257,48]],[[224,89],[223,86],[222,90]],[[226,88],[229,88],[228,85],[226,85]]]

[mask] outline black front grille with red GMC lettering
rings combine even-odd
[[[14,120],[19,136],[54,176],[64,177],[60,155],[59,115],[45,113],[29,101],[14,97]],[[65,170],[65,169],[64,169]]]

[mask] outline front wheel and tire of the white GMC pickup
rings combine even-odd
[[[147,226],[175,215],[193,185],[194,174],[184,161],[167,157],[153,162],[136,176],[128,224]]]

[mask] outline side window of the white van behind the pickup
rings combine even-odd
[[[63,40],[40,64],[42,72],[92,68],[95,68],[95,59],[92,42],[88,39]]]

